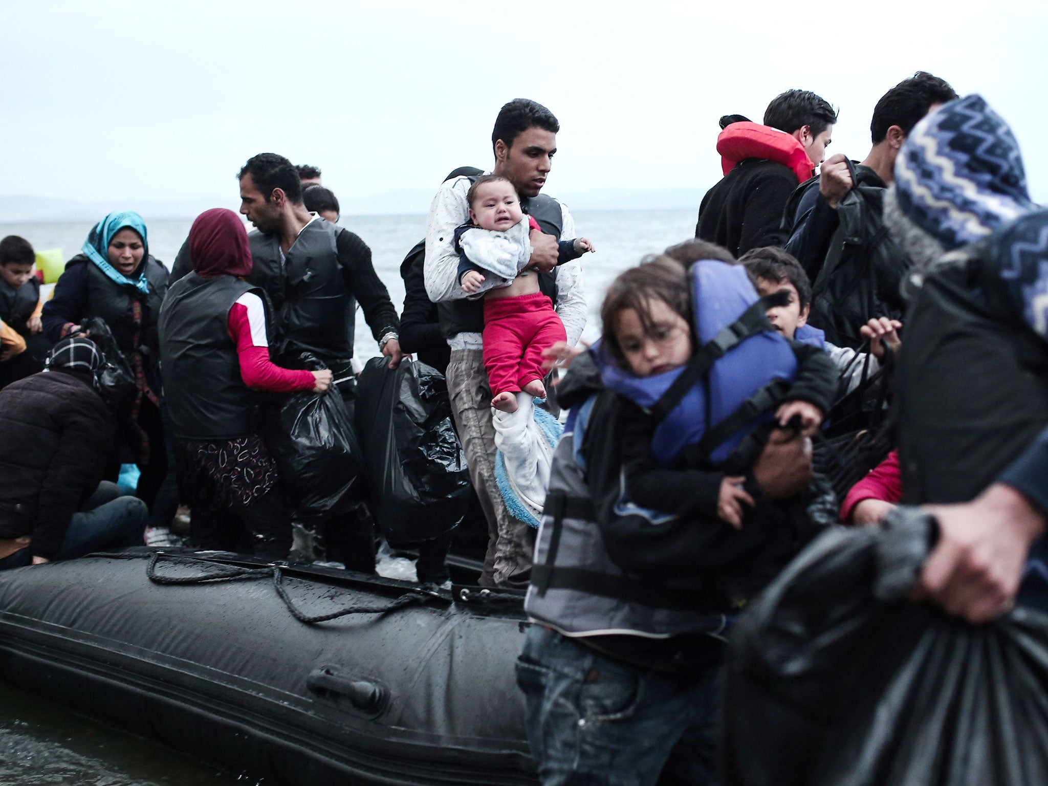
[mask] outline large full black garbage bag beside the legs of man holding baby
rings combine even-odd
[[[387,358],[372,358],[357,385],[356,422],[369,507],[386,540],[407,545],[453,529],[471,486],[443,374],[424,363],[391,369]]]

